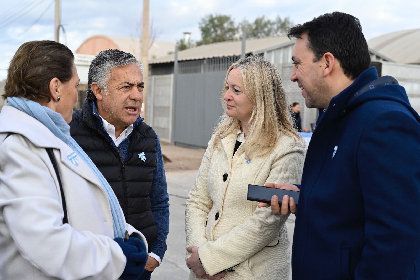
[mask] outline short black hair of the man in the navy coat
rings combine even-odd
[[[326,13],[290,28],[287,36],[289,39],[301,38],[304,33],[315,54],[314,62],[330,52],[351,79],[356,79],[369,67],[369,48],[358,18],[341,12]]]

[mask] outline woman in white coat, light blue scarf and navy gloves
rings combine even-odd
[[[144,270],[146,239],[70,136],[78,85],[74,55],[58,42],[26,42],[10,63],[0,113],[0,279],[136,279]],[[124,242],[126,231],[138,238]]]

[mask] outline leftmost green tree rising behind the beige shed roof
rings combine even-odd
[[[201,41],[197,42],[197,46],[234,40],[235,35],[238,34],[239,26],[235,25],[231,16],[210,14],[201,19],[199,29]]]

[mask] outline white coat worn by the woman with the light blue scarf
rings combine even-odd
[[[4,140],[7,132],[15,132]],[[4,140],[4,141],[3,141]],[[67,203],[45,147],[53,148]],[[115,280],[126,257],[113,241],[108,197],[95,174],[63,141],[10,106],[0,113],[0,279]],[[126,229],[146,239],[134,227]],[[147,243],[146,243],[147,244]],[[146,245],[147,246],[147,245]]]

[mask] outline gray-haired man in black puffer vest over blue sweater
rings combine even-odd
[[[142,71],[130,53],[100,52],[70,133],[108,180],[127,222],[146,237],[149,259],[139,279],[150,279],[167,248],[169,197],[159,137],[140,117]]]

